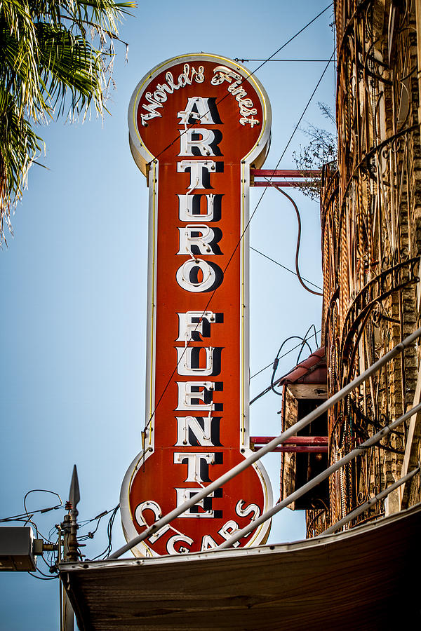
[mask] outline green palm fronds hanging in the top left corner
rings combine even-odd
[[[66,109],[71,119],[84,117],[92,103],[102,114],[113,40],[133,6],[113,0],[0,0],[0,244],[43,146],[32,124]]]

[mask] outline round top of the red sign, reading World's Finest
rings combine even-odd
[[[260,81],[239,63],[207,53],[156,66],[138,83],[128,109],[131,151],[144,175],[155,158],[174,160],[183,131],[196,125],[210,130],[225,160],[259,168],[269,149],[271,120]]]

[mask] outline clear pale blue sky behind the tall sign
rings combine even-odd
[[[23,511],[30,489],[51,489],[67,499],[72,467],[81,485],[79,517],[88,520],[119,502],[123,475],[140,450],[144,418],[147,282],[147,187],[128,148],[127,109],[138,81],[159,62],[203,50],[239,59],[265,59],[327,5],[326,0],[214,0],[203,7],[168,0],[142,3],[121,26],[114,81],[104,121],[59,120],[40,128],[46,142],[28,190],[13,217],[14,237],[0,251],[0,517]],[[276,58],[327,60],[334,35],[329,9]],[[245,62],[253,70],[260,62]],[[268,62],[258,72],[272,104],[274,168],[326,64]],[[305,115],[327,125],[317,102],[334,108],[333,64]],[[294,168],[298,132],[280,168]],[[251,192],[250,211],[262,189]],[[302,275],[321,284],[319,205],[293,191],[302,217]],[[267,191],[250,224],[250,245],[294,267],[295,212],[276,191]],[[290,335],[320,328],[321,299],[297,278],[250,252],[250,374],[274,359]],[[289,346],[290,348],[291,346]],[[288,348],[288,347],[286,347]],[[315,346],[313,344],[313,350]],[[297,352],[279,365],[295,365]],[[251,381],[251,396],[269,384],[267,369]],[[281,398],[268,394],[250,409],[251,433],[279,433]],[[274,496],[279,496],[279,454],[268,456]],[[52,506],[37,492],[30,509]],[[41,515],[47,535],[64,510]],[[94,524],[95,525],[95,524]],[[107,545],[105,525],[88,542],[93,557]],[[81,530],[87,532],[90,527]],[[303,513],[286,509],[269,541],[305,536]],[[114,549],[123,543],[119,517]],[[46,570],[43,562],[40,568]],[[0,630],[58,628],[58,581],[27,574],[0,575]]]

